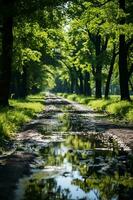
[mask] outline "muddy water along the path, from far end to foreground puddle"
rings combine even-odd
[[[133,199],[132,155],[96,125],[98,114],[54,96],[45,104],[26,127],[41,138],[18,144],[35,159],[31,175],[17,184],[15,200]]]

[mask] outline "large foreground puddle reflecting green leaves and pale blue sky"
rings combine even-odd
[[[107,144],[101,138],[96,134],[69,135],[64,142],[53,142],[41,149],[45,166],[41,174],[40,169],[22,181],[22,199],[131,200],[132,157],[113,141]],[[53,170],[45,170],[52,166]]]

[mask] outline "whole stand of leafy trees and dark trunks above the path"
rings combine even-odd
[[[133,92],[132,0],[1,0],[0,105],[45,89]]]

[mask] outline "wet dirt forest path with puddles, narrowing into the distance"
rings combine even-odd
[[[128,146],[133,147],[132,127],[114,125],[105,120],[106,116],[55,95],[46,97],[45,106],[44,112],[17,135],[15,152],[0,158],[1,200],[93,200],[97,187],[86,192],[78,186],[78,182],[85,184],[83,177],[90,176],[88,173],[114,176],[120,160],[119,170],[124,168],[124,174],[132,174],[127,168]],[[24,175],[26,178],[21,179]],[[132,191],[128,199],[130,195]]]

